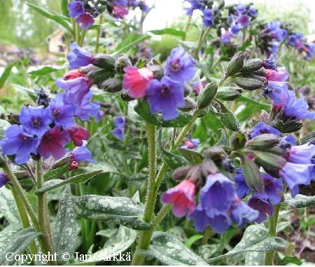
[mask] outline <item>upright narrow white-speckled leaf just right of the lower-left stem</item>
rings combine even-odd
[[[52,241],[57,255],[64,252],[73,255],[76,251],[76,214],[73,210],[70,186],[66,186],[59,201],[59,209],[55,227],[52,229]],[[64,265],[62,257],[57,258],[57,264]]]

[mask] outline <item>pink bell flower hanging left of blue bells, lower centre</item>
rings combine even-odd
[[[191,180],[184,180],[181,184],[162,193],[163,203],[174,204],[173,213],[176,217],[192,214],[195,210],[196,186]]]

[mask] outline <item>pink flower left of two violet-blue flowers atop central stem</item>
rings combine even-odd
[[[128,90],[128,95],[133,98],[146,96],[146,90],[153,80],[153,72],[148,68],[137,69],[130,66],[125,67],[124,71],[123,88]]]

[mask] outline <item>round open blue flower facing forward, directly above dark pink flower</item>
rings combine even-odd
[[[52,115],[50,109],[40,107],[25,107],[21,109],[20,123],[29,135],[36,135],[41,138],[50,129]]]

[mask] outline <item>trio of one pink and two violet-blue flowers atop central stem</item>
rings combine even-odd
[[[181,47],[172,49],[162,78],[154,78],[149,68],[125,67],[123,88],[130,97],[147,97],[151,114],[162,112],[165,121],[179,116],[184,107],[186,82],[195,76],[195,60]]]

